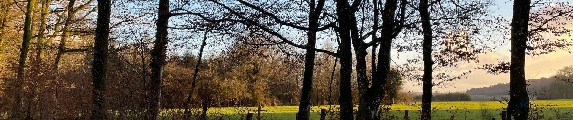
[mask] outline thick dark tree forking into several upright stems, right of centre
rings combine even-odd
[[[359,102],[356,119],[376,119],[378,108],[384,99],[384,89],[390,72],[390,51],[393,40],[402,31],[405,23],[406,1],[387,0],[382,10],[382,26],[378,26],[378,3],[372,1],[374,7],[374,26],[372,26],[372,41],[364,43],[360,38],[353,38],[352,44],[356,54],[356,75],[358,77]],[[379,28],[380,27],[380,28]],[[376,32],[380,30],[380,36]],[[356,33],[357,34],[357,33]],[[378,62],[376,62],[376,44],[380,44]],[[366,76],[366,49],[372,47],[372,82]],[[378,67],[376,67],[378,65]],[[370,85],[370,87],[368,87]]]

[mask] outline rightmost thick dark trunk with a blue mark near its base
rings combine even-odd
[[[529,94],[525,83],[525,50],[529,31],[529,9],[531,0],[513,1],[511,22],[511,65],[509,70],[508,119],[527,119]]]

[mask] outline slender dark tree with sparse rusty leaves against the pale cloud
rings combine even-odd
[[[490,48],[496,39],[489,33],[498,26],[497,19],[489,18],[490,1],[418,1],[408,3],[419,13],[419,19],[406,24],[410,39],[419,42],[399,45],[398,51],[416,51],[421,57],[407,60],[407,76],[422,85],[422,119],[431,119],[432,89],[444,88],[454,80],[465,78],[471,71],[457,68],[464,62],[477,62],[477,55]],[[491,15],[489,15],[491,16]],[[412,34],[413,33],[413,34]],[[420,75],[422,73],[422,75]]]

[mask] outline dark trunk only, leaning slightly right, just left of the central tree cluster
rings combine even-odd
[[[319,0],[318,5],[315,9],[315,0],[310,1],[310,9],[308,13],[309,28],[319,27],[319,17],[322,13],[324,7],[324,0]],[[308,31],[308,42],[307,46],[310,48],[316,47],[316,31]],[[304,75],[303,75],[303,89],[300,95],[299,103],[299,120],[308,120],[311,113],[311,98],[312,98],[312,75],[315,68],[315,51],[312,49],[307,49],[306,60],[304,63]]]

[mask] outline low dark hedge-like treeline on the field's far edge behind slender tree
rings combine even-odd
[[[472,101],[472,97],[466,93],[434,93],[431,97],[432,101]],[[422,96],[415,96],[414,101],[422,101]]]

